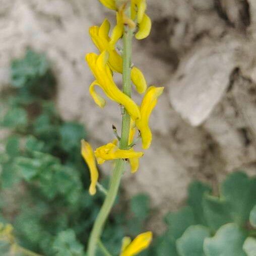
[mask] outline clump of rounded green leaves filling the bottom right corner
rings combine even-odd
[[[165,216],[166,232],[144,255],[255,256],[256,177],[229,174],[219,196],[207,184],[188,188],[188,206]]]

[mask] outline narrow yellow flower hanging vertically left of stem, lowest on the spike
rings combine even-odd
[[[85,159],[91,174],[91,184],[89,188],[89,193],[90,195],[94,195],[96,193],[96,184],[98,181],[99,173],[96,167],[96,161],[93,154],[93,149],[91,145],[85,140],[81,141],[81,154]]]

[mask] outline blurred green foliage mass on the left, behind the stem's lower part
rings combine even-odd
[[[24,58],[12,62],[11,75],[11,88],[1,100],[0,124],[9,135],[0,151],[0,222],[14,226],[24,248],[49,256],[84,256],[104,200],[100,191],[94,197],[88,194],[90,176],[80,154],[86,131],[78,122],[60,118],[53,103],[55,80],[44,54],[28,49]],[[108,181],[102,184],[107,187]],[[141,232],[149,214],[146,195],[121,205],[102,237],[115,255],[123,236]]]

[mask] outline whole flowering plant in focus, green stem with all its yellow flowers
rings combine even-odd
[[[111,255],[100,241],[105,221],[114,204],[125,162],[129,161],[131,172],[135,173],[139,168],[139,159],[144,155],[136,151],[134,145],[138,139],[142,139],[142,148],[148,149],[152,141],[152,133],[149,127],[149,118],[157,104],[158,97],[163,92],[163,87],[150,86],[141,70],[132,65],[132,39],[146,38],[150,34],[151,20],[146,15],[146,0],[100,0],[108,9],[116,12],[116,25],[110,33],[110,23],[105,19],[100,26],[93,26],[89,30],[92,41],[99,53],[88,53],[86,61],[94,75],[95,81],[89,87],[90,94],[95,103],[103,108],[106,100],[95,91],[95,86],[102,89],[108,99],[122,106],[121,135],[117,139],[103,145],[93,151],[90,144],[82,141],[81,153],[85,159],[91,174],[89,193],[94,195],[98,183],[98,169],[96,163],[114,160],[115,167],[106,191],[106,199],[94,223],[89,243],[88,256],[95,256],[97,244],[106,255]],[[121,55],[116,50],[116,43],[122,39]],[[122,91],[116,86],[113,74],[122,74]],[[140,106],[131,97],[132,83],[140,94],[144,94]],[[138,132],[138,138],[135,138]],[[123,239],[120,256],[132,256],[147,248],[152,240],[152,232],[138,235],[133,241],[125,237]]]

